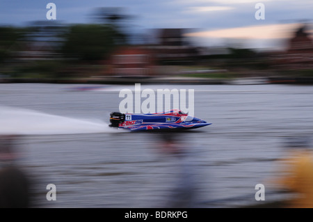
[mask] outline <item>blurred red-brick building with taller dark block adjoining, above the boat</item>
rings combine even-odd
[[[113,76],[147,77],[171,74],[164,65],[186,65],[193,63],[199,51],[189,45],[184,29],[159,29],[153,44],[120,47],[105,63],[106,74]]]

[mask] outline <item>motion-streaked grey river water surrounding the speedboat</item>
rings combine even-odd
[[[212,125],[177,135],[186,156],[161,151],[159,134],[108,127],[122,88],[75,90],[70,84],[0,84],[0,134],[19,134],[18,164],[33,178],[39,207],[164,207],[183,174],[193,175],[196,207],[255,205],[286,198],[268,179],[284,157],[284,138],[311,136],[313,87],[153,85],[194,89],[195,116]],[[48,201],[47,184],[56,185]]]

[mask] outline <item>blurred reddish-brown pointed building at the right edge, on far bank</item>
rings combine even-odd
[[[288,40],[287,50],[273,54],[273,66],[284,70],[313,68],[313,40],[303,24]]]

